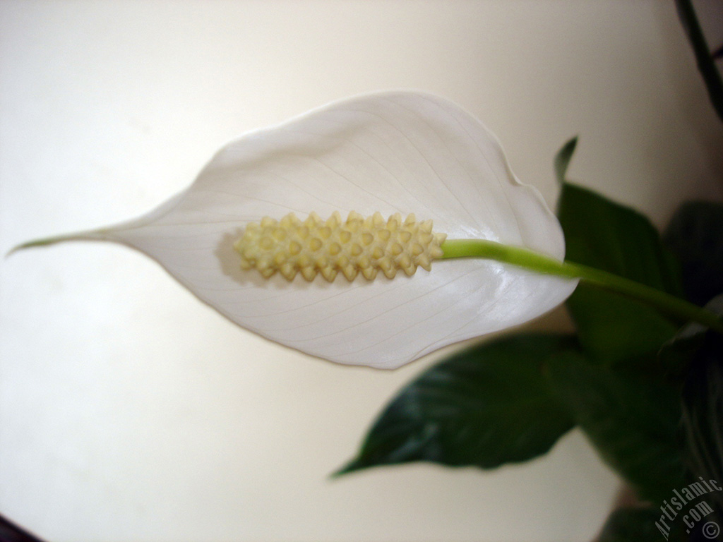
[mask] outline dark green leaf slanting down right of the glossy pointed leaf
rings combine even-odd
[[[552,390],[602,458],[643,496],[662,501],[683,483],[680,399],[662,379],[587,364],[567,352],[549,360]]]

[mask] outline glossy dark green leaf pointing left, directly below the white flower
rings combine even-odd
[[[573,422],[542,366],[572,348],[568,336],[517,335],[442,361],[395,397],[339,474],[413,461],[495,468],[544,454]]]

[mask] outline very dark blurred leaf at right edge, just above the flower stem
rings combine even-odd
[[[664,234],[680,260],[688,301],[704,305],[723,293],[723,205],[688,202],[680,206]]]

